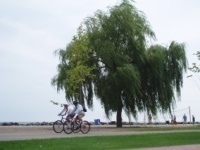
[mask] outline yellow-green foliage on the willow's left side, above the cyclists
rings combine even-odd
[[[92,70],[95,69],[92,60],[92,49],[88,46],[88,37],[82,25],[66,49],[55,51],[59,56],[58,74],[52,78],[52,85],[57,86],[57,91],[64,90],[66,100],[79,101],[89,107],[93,106]]]

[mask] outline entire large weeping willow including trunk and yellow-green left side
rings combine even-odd
[[[117,112],[117,127],[122,127],[123,110],[135,118],[143,111],[171,111],[187,68],[183,43],[149,46],[155,34],[128,0],[97,11],[83,27],[59,51],[58,75],[52,79],[57,90],[64,89],[70,100],[86,99],[90,107],[95,94],[107,117]]]

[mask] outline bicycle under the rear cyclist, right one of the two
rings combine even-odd
[[[79,120],[70,120],[66,121],[63,124],[63,130],[66,134],[72,132],[78,133],[81,131],[83,134],[86,134],[90,131],[90,123],[88,121],[79,121]]]

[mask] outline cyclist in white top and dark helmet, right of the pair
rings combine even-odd
[[[78,119],[82,121],[82,118],[85,116],[85,112],[83,111],[83,106],[80,105],[77,101],[73,102],[74,109],[72,110],[72,114],[75,114],[73,119]]]

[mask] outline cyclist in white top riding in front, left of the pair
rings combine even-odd
[[[73,113],[73,110],[74,110],[74,106],[69,106],[68,104],[63,104],[64,108],[63,110],[58,114],[59,116],[60,115],[67,115],[66,117],[66,120],[69,121],[70,119],[72,119],[74,117],[74,113]],[[62,114],[64,113],[64,114]]]

